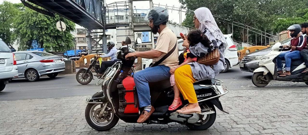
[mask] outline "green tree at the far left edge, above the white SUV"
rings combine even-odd
[[[17,14],[20,14],[22,10],[21,3],[13,4],[11,2],[4,1],[0,4],[0,38],[7,44],[13,44],[13,21]]]

